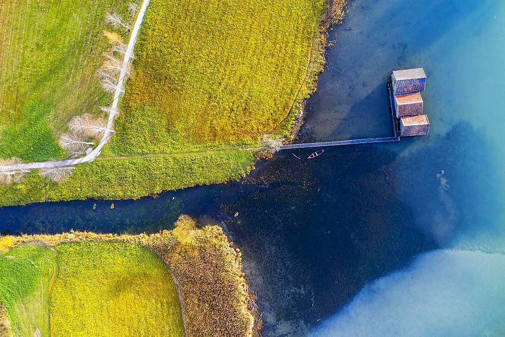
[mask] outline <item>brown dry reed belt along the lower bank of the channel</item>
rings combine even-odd
[[[241,253],[216,224],[200,227],[193,218],[181,215],[174,229],[153,234],[69,231],[61,234],[7,235],[0,236],[0,253],[30,243],[53,247],[95,241],[145,247],[164,262],[176,285],[182,324],[188,335],[259,335],[256,324],[258,314],[251,305],[254,298],[242,271]],[[189,282],[198,279],[202,270],[209,272],[209,278]],[[1,309],[0,306],[0,319]],[[234,319],[226,319],[231,317]],[[0,320],[0,331],[1,328]]]

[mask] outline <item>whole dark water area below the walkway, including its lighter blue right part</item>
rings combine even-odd
[[[395,151],[328,149],[312,161],[282,152],[245,179],[269,181],[269,188],[224,210],[266,313],[267,334],[304,335],[366,283],[447,247],[476,224],[482,231],[496,223],[499,171],[486,160],[491,150],[483,135],[461,122],[433,138],[408,156],[398,154],[420,138],[396,143]]]

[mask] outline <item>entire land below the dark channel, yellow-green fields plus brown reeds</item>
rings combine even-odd
[[[11,325],[21,325],[23,335],[33,336],[44,324],[13,316],[20,299],[42,304],[25,306],[24,315],[45,313],[41,332],[47,331],[50,316],[55,336],[182,335],[179,302],[165,263],[177,280],[188,336],[257,335],[252,332],[258,313],[252,309],[254,296],[246,291],[240,252],[221,227],[198,228],[186,215],[173,230],[154,234],[0,236],[0,335],[4,304]],[[16,284],[17,277],[23,282]],[[49,286],[40,283],[50,296],[34,291],[41,277],[51,278]]]

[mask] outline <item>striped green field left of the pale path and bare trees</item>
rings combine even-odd
[[[62,158],[57,138],[74,115],[98,113],[110,95],[96,70],[104,61],[107,11],[120,0],[0,2],[0,158]],[[126,30],[120,31],[125,36]]]

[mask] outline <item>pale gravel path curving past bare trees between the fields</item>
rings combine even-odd
[[[128,63],[130,62],[130,56],[133,54],[133,49],[135,47],[135,42],[137,41],[138,30],[140,29],[140,25],[144,20],[145,10],[147,9],[147,5],[149,5],[149,0],[144,0],[142,3],[142,7],[137,15],[137,19],[135,20],[135,25],[131,31],[130,40],[128,41],[128,45],[126,47],[125,57],[123,59],[123,64],[121,66],[121,72],[119,73],[118,85],[116,88],[116,92],[114,92],[114,101],[112,102],[111,111],[109,112],[109,120],[107,122],[107,129],[111,130],[114,127],[114,118],[118,115],[118,103],[121,94],[123,93],[123,86],[125,82],[125,78],[127,75],[126,70],[128,69]],[[64,166],[72,166],[80,163],[92,162],[102,153],[102,149],[107,144],[109,139],[111,138],[112,132],[106,131],[104,136],[98,143],[98,146],[93,149],[89,154],[84,157],[74,158],[74,159],[65,159],[59,161],[48,161],[48,162],[38,162],[38,163],[22,163],[16,165],[9,165],[9,167],[17,167],[21,169],[40,169],[40,168],[56,168],[56,167],[64,167]]]

